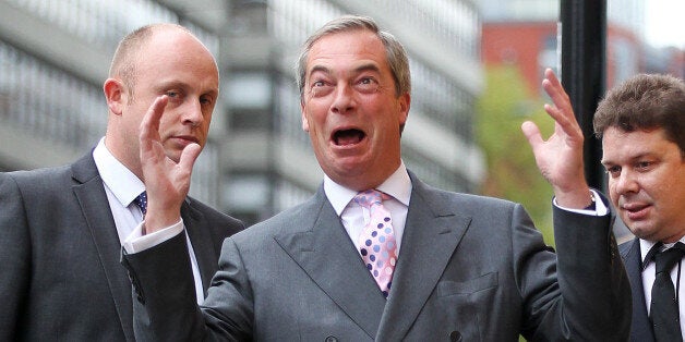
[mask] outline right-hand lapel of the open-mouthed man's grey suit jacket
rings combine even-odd
[[[410,175],[413,190],[378,341],[405,339],[470,224]]]

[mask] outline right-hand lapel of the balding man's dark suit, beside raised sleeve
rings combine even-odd
[[[217,260],[214,257],[217,253],[213,251],[214,243],[212,242],[213,237],[209,233],[207,220],[205,220],[202,212],[190,206],[190,198],[185,199],[185,203],[181,206],[181,217],[195,252],[195,259],[200,268],[200,277],[202,278],[202,288],[206,296],[212,277],[214,277],[217,267]],[[207,251],[207,248],[211,248],[211,251]]]

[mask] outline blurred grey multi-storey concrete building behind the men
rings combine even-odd
[[[118,40],[175,22],[221,69],[191,195],[248,223],[265,219],[321,183],[292,65],[307,35],[345,13],[374,17],[410,53],[408,168],[474,192],[485,172],[472,132],[483,78],[480,15],[468,0],[0,0],[0,170],[62,164],[92,148],[106,125],[101,84]]]

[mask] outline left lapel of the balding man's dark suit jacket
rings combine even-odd
[[[123,333],[128,341],[133,341],[131,283],[124,268],[119,262],[121,243],[117,234],[117,227],[115,227],[115,219],[109,209],[103,180],[97,172],[93,157],[88,155],[77,160],[72,166],[72,175],[79,183],[73,186],[73,192],[81,206],[93,243],[97,248]]]

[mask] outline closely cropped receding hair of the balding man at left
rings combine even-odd
[[[109,66],[109,77],[119,77],[131,93],[133,100],[133,88],[136,81],[136,64],[141,57],[141,50],[159,28],[177,28],[193,35],[188,28],[169,23],[151,24],[139,27],[128,34],[119,41],[111,64]]]

